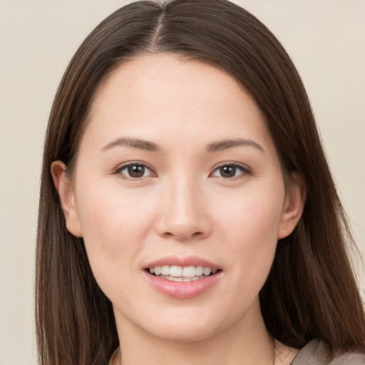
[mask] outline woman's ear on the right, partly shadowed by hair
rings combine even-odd
[[[307,186],[299,173],[292,173],[292,181],[287,188],[284,207],[282,211],[282,221],[279,227],[279,240],[287,237],[293,232],[295,226],[302,217],[304,204],[307,200]]]

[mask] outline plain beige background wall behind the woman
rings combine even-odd
[[[365,252],[365,1],[242,0],[282,41]],[[36,364],[34,246],[43,135],[66,65],[125,1],[0,0],[0,364]],[[360,276],[360,274],[359,274]]]

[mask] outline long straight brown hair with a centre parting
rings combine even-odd
[[[107,364],[118,346],[113,309],[91,272],[82,238],[66,230],[50,166],[72,170],[94,91],[125,59],[173,53],[225,68],[267,121],[282,169],[299,172],[307,203],[279,240],[260,292],[270,334],[300,348],[325,339],[332,351],[362,348],[364,307],[347,255],[344,210],[302,81],[277,38],[226,0],[140,1],[108,16],[73,56],[46,134],[36,251],[36,331],[40,364]]]

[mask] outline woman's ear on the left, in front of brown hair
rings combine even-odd
[[[60,196],[67,230],[76,237],[82,237],[80,219],[75,203],[75,194],[71,181],[66,175],[66,165],[62,161],[53,161],[51,164],[51,174],[54,186]]]

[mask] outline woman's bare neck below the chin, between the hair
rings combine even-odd
[[[242,317],[230,327],[195,341],[153,336],[127,319],[117,318],[121,359],[113,365],[271,365],[274,343],[259,310],[255,318]],[[118,358],[118,359],[117,359]]]

